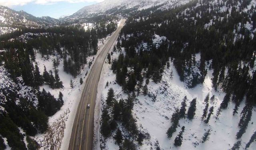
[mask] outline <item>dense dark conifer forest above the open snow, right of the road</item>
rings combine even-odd
[[[171,58],[180,80],[193,88],[204,81],[206,63],[211,62],[216,90],[221,87],[238,104],[244,96],[255,103],[250,92],[255,89],[254,5],[254,1],[191,1],[171,10],[142,11],[130,17],[117,44],[118,49],[124,47],[126,55],[112,65],[117,82],[133,91],[142,69],[147,70],[144,77],[158,82],[161,68]],[[156,47],[154,34],[167,39]],[[200,64],[195,61],[198,53]],[[125,66],[134,73],[123,71]],[[134,75],[137,78],[132,78]],[[128,86],[123,80],[126,76],[134,79],[134,84]]]

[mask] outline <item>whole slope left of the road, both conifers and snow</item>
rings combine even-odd
[[[60,148],[94,57],[118,22],[89,30],[22,28],[0,36],[0,149]]]

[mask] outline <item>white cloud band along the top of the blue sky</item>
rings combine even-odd
[[[78,2],[102,2],[104,0],[0,0],[0,5],[3,6],[23,6],[28,3],[36,3],[41,5],[55,4],[57,2],[70,2],[70,3],[78,3]]]

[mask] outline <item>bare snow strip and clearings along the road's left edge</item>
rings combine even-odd
[[[120,22],[118,23],[118,26]],[[98,43],[98,52],[94,56],[90,56],[87,58],[87,62],[89,64],[92,61],[92,65],[96,60],[96,57],[102,51],[102,47],[105,42],[108,41],[110,35],[107,38],[100,39]],[[36,53],[36,63],[42,73],[44,71],[44,66],[46,66],[47,71],[54,70],[52,66],[52,59],[58,56],[50,56],[48,59],[42,58],[42,56]],[[60,80],[63,82],[63,89],[52,89],[48,85],[43,85],[40,87],[40,90],[44,88],[49,91],[55,98],[58,98],[59,92],[62,92],[64,95],[64,105],[61,110],[56,112],[53,116],[49,118],[49,129],[44,134],[38,134],[35,136],[35,140],[42,146],[42,150],[48,150],[50,146],[54,146],[56,149],[66,150],[69,145],[69,140],[72,132],[73,122],[76,115],[76,110],[78,104],[80,102],[80,98],[82,95],[82,90],[85,86],[85,81],[87,79],[86,72],[90,72],[90,68],[88,64],[84,65],[84,69],[81,70],[80,75],[76,78],[72,77],[70,74],[64,72],[63,69],[63,60],[60,59],[60,64],[58,66]],[[80,85],[80,78],[83,79],[83,84]],[[70,80],[74,82],[74,88],[70,88]]]

